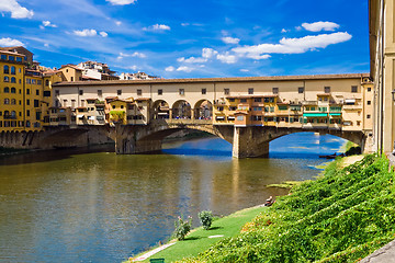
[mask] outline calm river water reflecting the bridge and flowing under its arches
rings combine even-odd
[[[0,159],[0,262],[121,262],[167,241],[179,215],[215,215],[286,191],[267,184],[318,174],[345,140],[312,133],[271,142],[270,158],[232,158],[218,138],[171,142],[161,155],[105,148]],[[95,152],[92,152],[95,151]]]

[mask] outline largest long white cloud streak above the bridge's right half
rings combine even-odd
[[[305,36],[301,38],[283,37],[279,44],[235,47],[232,50],[240,57],[266,59],[268,58],[268,54],[302,54],[317,48],[326,48],[328,45],[347,42],[351,39],[351,37],[347,32]]]

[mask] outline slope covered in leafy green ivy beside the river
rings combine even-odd
[[[371,155],[306,182],[247,224],[183,262],[356,262],[395,239],[394,172]]]

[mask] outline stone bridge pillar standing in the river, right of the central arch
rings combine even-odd
[[[257,144],[251,127],[235,127],[232,153],[234,158],[268,157],[269,141]]]

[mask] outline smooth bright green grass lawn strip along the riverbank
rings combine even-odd
[[[173,262],[183,258],[195,256],[200,252],[207,250],[213,243],[221,239],[236,237],[246,222],[252,220],[252,218],[264,209],[266,207],[252,207],[237,211],[227,217],[219,218],[213,221],[210,230],[204,230],[200,227],[193,230],[185,240],[177,241],[176,244],[156,253],[149,259],[165,259],[165,262]],[[216,235],[223,235],[224,237],[208,238],[210,236]],[[149,259],[143,262],[149,262]]]

